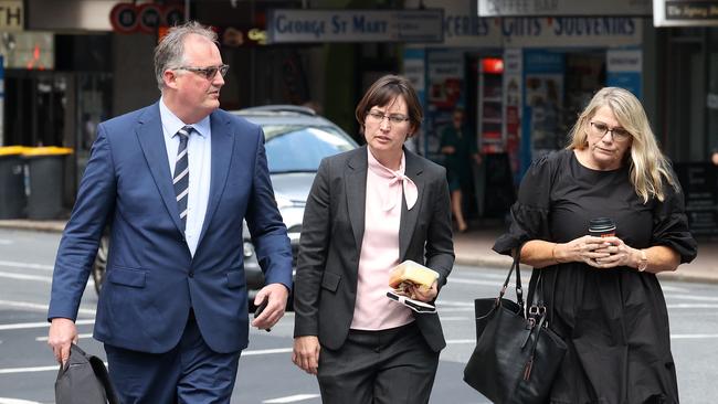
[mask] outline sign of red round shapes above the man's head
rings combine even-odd
[[[171,26],[181,22],[183,10],[180,6],[117,3],[109,12],[109,22],[113,30],[119,33],[152,34],[160,26]]]

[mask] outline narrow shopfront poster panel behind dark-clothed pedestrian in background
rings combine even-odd
[[[426,116],[424,150],[431,160],[442,162],[441,132],[451,125],[452,111],[464,107],[464,53],[454,50],[427,52]]]

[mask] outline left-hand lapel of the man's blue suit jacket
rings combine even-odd
[[[139,127],[135,131],[137,140],[142,148],[145,160],[155,179],[155,184],[162,196],[167,212],[175,222],[177,230],[182,232],[179,217],[175,188],[167,160],[167,146],[162,134],[162,121],[159,116],[159,104],[150,106],[140,117]]]

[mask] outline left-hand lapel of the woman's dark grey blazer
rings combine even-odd
[[[345,173],[345,188],[347,194],[347,210],[349,221],[357,243],[357,253],[361,254],[361,241],[365,235],[365,213],[367,204],[367,147],[356,149],[353,156],[347,160]]]

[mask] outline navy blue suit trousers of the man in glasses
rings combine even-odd
[[[123,404],[229,403],[240,353],[217,353],[190,316],[180,342],[166,353],[105,344],[109,379]]]

